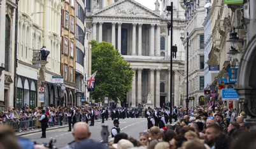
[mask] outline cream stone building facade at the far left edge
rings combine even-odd
[[[0,110],[13,107],[15,80],[15,22],[17,3],[15,0],[0,1]]]

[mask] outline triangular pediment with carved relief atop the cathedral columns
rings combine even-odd
[[[92,16],[113,16],[132,18],[161,18],[160,15],[134,0],[122,0],[96,11]]]

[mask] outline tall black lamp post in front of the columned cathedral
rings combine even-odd
[[[171,77],[170,77],[170,112],[172,112],[172,107],[173,107],[173,58],[176,58],[176,52],[177,52],[177,46],[173,46],[173,2],[171,2],[171,6],[167,6],[166,10],[168,11],[167,15],[171,15],[171,22],[167,23],[167,28],[168,28],[168,35],[169,35],[169,30],[171,29]],[[170,124],[172,123],[172,116],[170,115]]]

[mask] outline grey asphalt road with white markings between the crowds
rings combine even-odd
[[[139,119],[120,119],[120,129],[122,133],[127,133],[128,136],[132,136],[135,139],[139,139],[139,132],[145,131],[147,129],[146,123],[147,120],[145,118],[139,118]],[[104,124],[108,125],[108,130],[110,132],[111,128],[113,127],[113,120],[105,121]],[[92,132],[92,135],[90,138],[95,139],[97,141],[101,141],[101,122],[95,122],[94,126],[90,126],[90,132]],[[109,138],[111,138],[111,133],[109,134]],[[71,132],[68,132],[68,127],[62,127],[59,129],[51,129],[46,131],[46,138],[40,138],[41,137],[41,131],[35,132],[31,134],[24,134],[22,135],[24,138],[31,139],[32,141],[36,141],[36,143],[48,143],[50,139],[55,138],[56,143],[55,146],[57,148],[61,148],[63,146],[66,146],[67,143],[73,141],[73,136]]]

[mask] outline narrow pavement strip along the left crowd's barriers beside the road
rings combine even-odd
[[[94,122],[101,122],[101,119],[94,120]],[[46,131],[53,130],[53,129],[61,129],[64,127],[68,127],[68,124],[65,124],[63,126],[55,125],[55,126],[49,126],[46,128]],[[23,136],[25,134],[32,134],[32,133],[38,133],[41,132],[41,127],[37,129],[29,129],[28,131],[22,131],[22,132],[15,132],[15,136]]]

